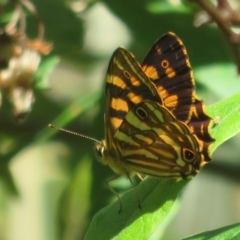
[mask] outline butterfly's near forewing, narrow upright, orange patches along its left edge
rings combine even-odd
[[[114,148],[113,136],[131,108],[143,100],[162,103],[156,87],[133,55],[124,48],[118,48],[109,62],[105,94],[105,136],[108,149]]]

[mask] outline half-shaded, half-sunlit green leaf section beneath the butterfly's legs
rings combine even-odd
[[[85,236],[94,239],[148,239],[168,215],[179,192],[188,181],[149,177],[136,187],[142,208],[139,210],[134,190],[98,212]]]

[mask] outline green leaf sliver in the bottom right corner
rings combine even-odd
[[[212,231],[206,231],[182,240],[234,240],[240,239],[240,223],[227,227],[218,228]]]

